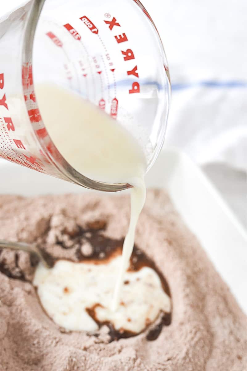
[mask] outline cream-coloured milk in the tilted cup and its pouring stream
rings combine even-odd
[[[116,311],[146,198],[145,155],[124,127],[78,94],[42,83],[35,85],[35,95],[51,139],[75,170],[94,180],[133,185],[129,230],[112,301],[112,310]]]

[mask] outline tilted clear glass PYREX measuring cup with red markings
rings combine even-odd
[[[138,139],[147,170],[162,147],[170,82],[162,42],[138,0],[31,0],[0,20],[0,156],[87,188],[53,144],[35,83],[78,92]],[[54,97],[51,97],[54,99]]]

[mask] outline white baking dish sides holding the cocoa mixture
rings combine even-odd
[[[148,187],[165,188],[238,303],[247,313],[247,232],[202,171],[182,152],[166,148],[146,175]],[[78,185],[0,162],[0,193],[34,196],[80,193]],[[91,191],[92,192],[92,191]]]

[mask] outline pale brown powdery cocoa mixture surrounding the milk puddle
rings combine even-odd
[[[40,243],[51,259],[103,259],[99,242],[122,241],[128,221],[128,196],[0,196],[0,239]],[[247,318],[164,191],[148,191],[136,248],[168,282],[172,319],[118,341],[107,326],[59,328],[30,283],[35,257],[1,250],[0,371],[246,370]]]

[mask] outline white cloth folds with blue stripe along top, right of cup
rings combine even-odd
[[[174,85],[166,144],[202,164],[247,170],[247,83]]]

